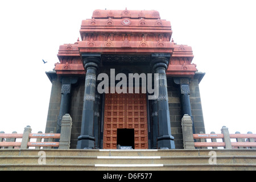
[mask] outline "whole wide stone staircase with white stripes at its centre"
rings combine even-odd
[[[256,149],[0,149],[0,170],[256,170]]]

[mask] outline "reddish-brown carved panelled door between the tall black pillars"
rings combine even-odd
[[[117,129],[134,129],[134,149],[147,149],[146,94],[105,94],[103,148],[117,148]]]

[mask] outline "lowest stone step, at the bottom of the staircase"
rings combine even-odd
[[[255,171],[256,164],[0,164],[1,171]]]

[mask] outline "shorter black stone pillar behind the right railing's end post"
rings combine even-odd
[[[192,119],[192,129],[193,133],[195,133],[195,126],[194,126],[194,119],[191,113],[191,104],[190,104],[190,89],[189,89],[189,82],[190,78],[186,77],[176,77],[174,78],[175,84],[180,85],[180,101],[181,101],[181,107],[182,107],[182,113],[188,114],[191,116]]]

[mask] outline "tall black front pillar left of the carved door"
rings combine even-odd
[[[95,148],[94,110],[96,93],[96,74],[101,61],[100,54],[82,54],[86,69],[84,105],[82,109],[81,135],[78,137],[77,148]]]

